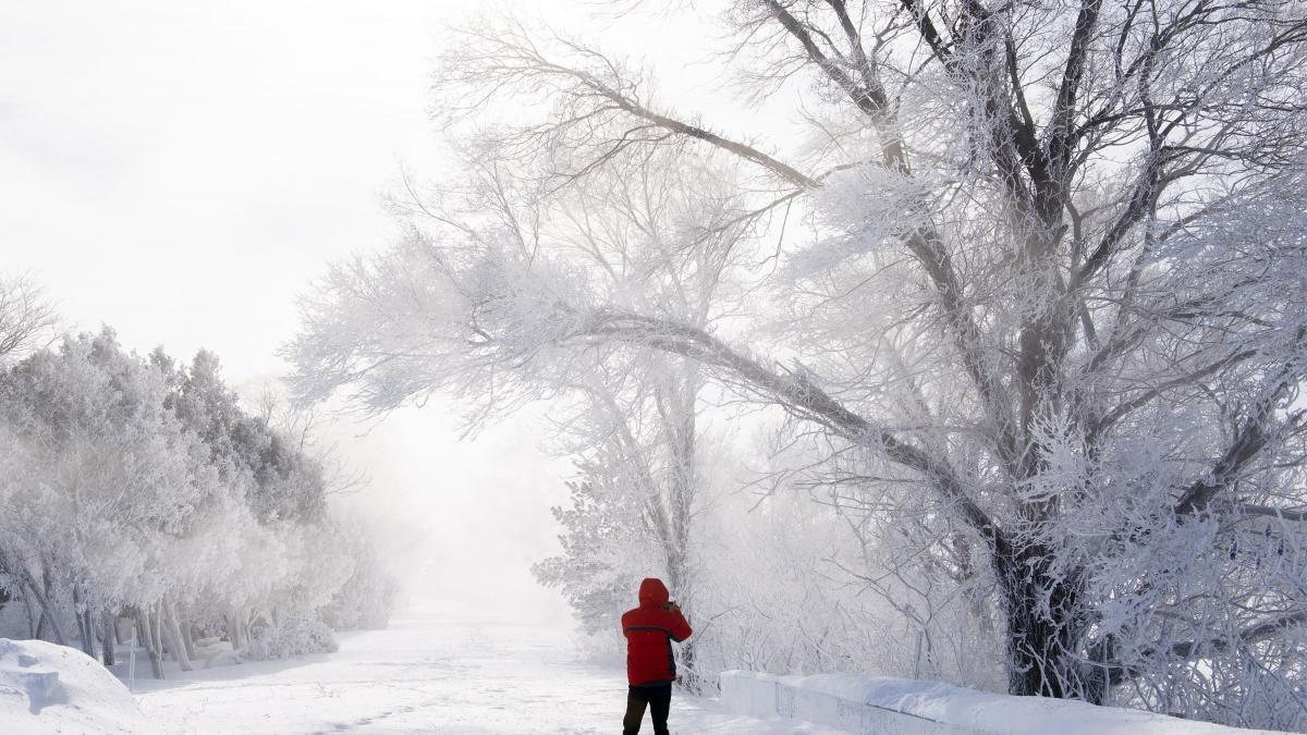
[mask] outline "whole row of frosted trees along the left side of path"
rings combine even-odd
[[[33,293],[0,281],[0,603],[27,636],[112,664],[135,628],[162,676],[204,638],[272,658],[386,624],[393,583],[302,436],[246,409],[213,353],[56,340]]]

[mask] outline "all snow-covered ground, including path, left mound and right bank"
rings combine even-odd
[[[119,675],[127,668],[115,667]],[[335,654],[191,672],[167,668],[169,679],[136,679],[128,692],[78,650],[0,640],[0,734],[600,734],[621,730],[626,698],[623,672],[586,662],[563,628],[494,623],[438,608],[400,617],[386,630],[346,633]],[[137,675],[148,671],[146,662],[137,662]],[[728,679],[729,708],[677,694],[672,732],[1236,732],[932,681],[752,672]],[[827,725],[757,718],[765,713]],[[652,731],[647,721],[642,731]]]

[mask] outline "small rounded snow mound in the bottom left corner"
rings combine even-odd
[[[131,692],[86,654],[0,638],[0,732],[150,732]]]

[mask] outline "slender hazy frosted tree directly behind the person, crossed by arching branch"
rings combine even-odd
[[[723,277],[738,259],[733,245],[740,237],[731,225],[703,228],[729,211],[714,174],[729,175],[689,166],[674,152],[595,171],[584,184],[557,195],[562,228],[545,238],[578,243],[570,260],[622,301],[707,327],[735,301],[735,294],[723,293]],[[583,553],[614,555],[621,548],[625,555],[596,569],[575,564],[580,560],[569,553],[540,566],[537,575],[546,583],[566,581],[578,612],[591,623],[600,611],[588,603],[609,600],[604,612],[616,619],[631,606],[630,590],[650,575],[664,578],[693,616],[697,578],[707,562],[697,553],[695,528],[708,489],[701,456],[703,377],[677,356],[631,361],[609,354],[592,366],[571,365],[561,383],[541,383],[574,399],[555,420],[554,443],[579,458],[584,473],[574,488],[578,502],[570,511],[555,511],[567,528],[563,544],[588,549]],[[625,590],[620,600],[610,596],[618,579]],[[685,683],[698,689],[695,649],[697,641],[681,645],[681,659]]]

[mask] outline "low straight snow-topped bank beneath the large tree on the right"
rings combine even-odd
[[[792,717],[857,734],[894,735],[1272,735],[1138,710],[1044,697],[1009,697],[937,681],[825,674],[721,675],[735,714]]]

